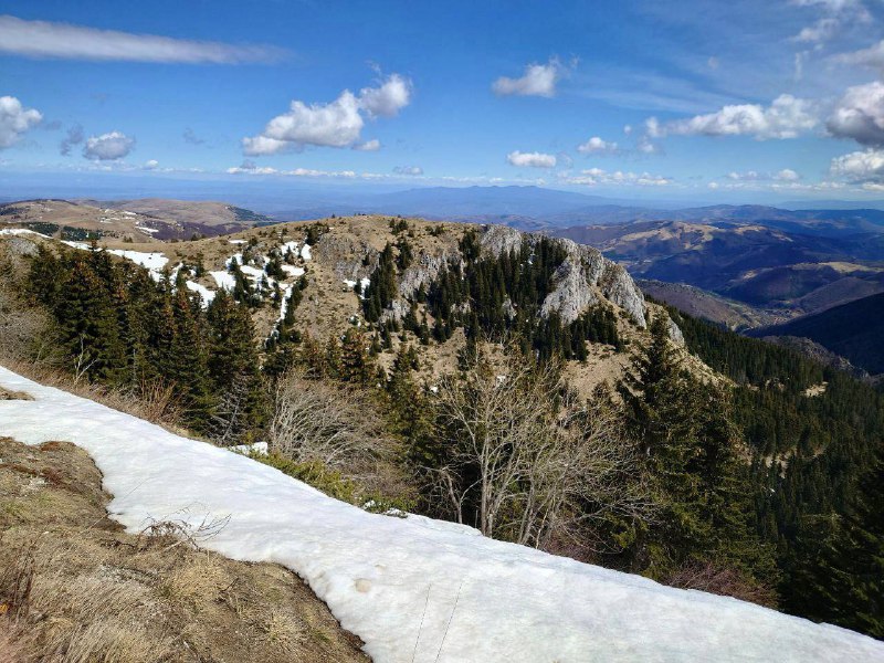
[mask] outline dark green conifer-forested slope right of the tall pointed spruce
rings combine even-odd
[[[872,622],[861,622],[859,614],[877,610],[880,624],[880,603],[875,608],[870,601],[859,608],[869,588],[851,588],[834,569],[846,568],[840,565],[849,564],[850,558],[872,559],[874,548],[848,551],[834,541],[846,537],[854,544],[867,544],[860,533],[875,527],[861,505],[880,496],[860,477],[882,450],[882,396],[793,350],[671,313],[687,346],[737,382],[734,419],[753,455],[754,481],[765,488],[755,493],[756,526],[762,539],[776,546],[783,607],[873,632]],[[806,394],[809,387],[822,382],[824,391]],[[846,513],[854,514],[850,517],[855,525],[841,525]],[[840,592],[845,596],[839,597]],[[844,608],[842,599],[853,601],[853,608]],[[849,617],[851,611],[854,617]]]

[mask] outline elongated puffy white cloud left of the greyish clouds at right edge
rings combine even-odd
[[[813,104],[789,94],[774,99],[770,106],[735,104],[706,115],[677,119],[661,125],[656,118],[645,123],[650,138],[678,136],[751,136],[757,140],[794,138],[812,129],[819,119]]]

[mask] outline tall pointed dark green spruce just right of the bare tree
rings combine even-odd
[[[665,315],[620,389],[632,436],[659,504],[656,522],[636,533],[633,570],[664,577],[688,564],[736,568],[769,581],[770,550],[754,527],[753,488],[737,457],[739,430],[726,388],[704,385],[680,366]]]

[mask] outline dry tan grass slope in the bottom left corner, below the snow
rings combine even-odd
[[[0,457],[0,661],[367,660],[286,569],[122,532],[75,446]]]

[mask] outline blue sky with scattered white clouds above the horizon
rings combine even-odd
[[[0,194],[882,199],[882,0],[0,0]]]

